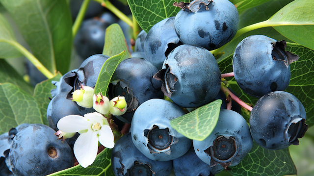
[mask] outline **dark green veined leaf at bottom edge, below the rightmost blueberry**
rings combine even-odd
[[[288,148],[277,151],[263,149],[253,142],[252,150],[228,171],[233,176],[284,176],[296,174]]]

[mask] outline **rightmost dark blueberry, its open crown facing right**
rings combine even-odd
[[[280,150],[299,145],[308,129],[302,103],[288,92],[276,91],[258,100],[250,115],[254,141],[262,148]]]

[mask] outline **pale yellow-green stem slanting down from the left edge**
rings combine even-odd
[[[44,74],[48,79],[51,79],[54,75],[41,63],[39,60],[26,50],[21,44],[15,41],[9,41],[0,39],[0,42],[4,42],[12,45],[15,49],[20,51],[42,74]]]

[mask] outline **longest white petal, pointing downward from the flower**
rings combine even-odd
[[[96,159],[98,151],[97,133],[97,131],[88,130],[86,133],[80,134],[74,144],[75,157],[84,168],[93,164]]]

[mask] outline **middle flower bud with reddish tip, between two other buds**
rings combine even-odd
[[[110,101],[106,96],[102,96],[101,93],[98,95],[93,96],[93,108],[101,113],[101,114],[108,114],[109,113],[109,107],[110,107]]]

